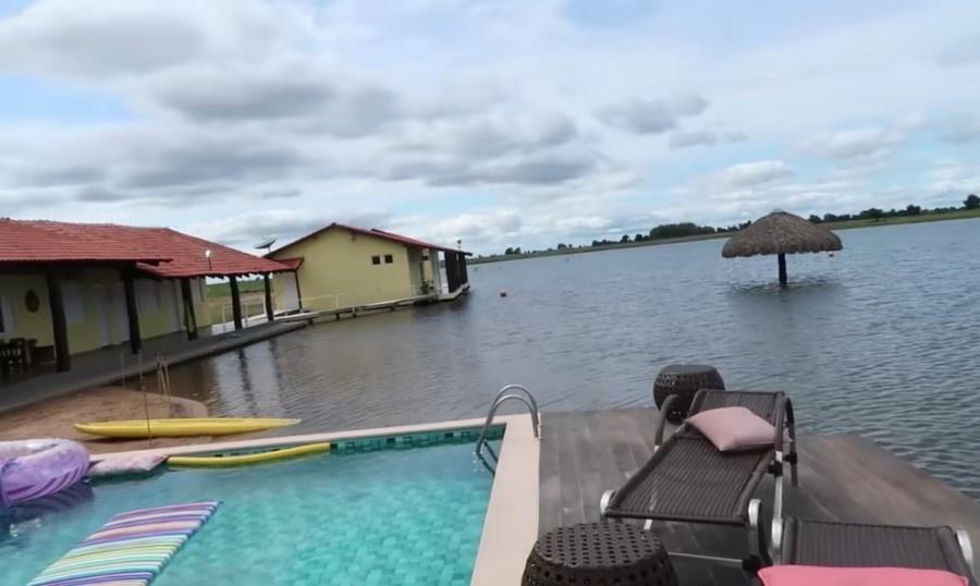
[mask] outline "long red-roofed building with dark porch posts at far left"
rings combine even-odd
[[[71,356],[206,326],[205,279],[293,269],[167,228],[0,219],[0,343],[29,345],[38,361],[71,368]]]

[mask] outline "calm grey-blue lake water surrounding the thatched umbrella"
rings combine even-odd
[[[339,430],[482,416],[509,382],[544,411],[647,405],[660,367],[708,363],[787,391],[804,431],[863,435],[980,498],[980,221],[840,235],[788,257],[786,290],[775,258],[723,259],[723,240],[473,266],[456,304],[307,328],[173,386]]]

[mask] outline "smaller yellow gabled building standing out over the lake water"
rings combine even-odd
[[[294,313],[454,298],[469,288],[468,254],[382,230],[332,223],[266,256],[295,269],[293,274],[277,274],[273,285],[278,310]]]

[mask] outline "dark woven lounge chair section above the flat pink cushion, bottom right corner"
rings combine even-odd
[[[950,527],[859,525],[786,517],[777,564],[945,570],[977,586],[970,538]]]

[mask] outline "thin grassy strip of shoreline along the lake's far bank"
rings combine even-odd
[[[883,218],[881,220],[845,220],[843,222],[821,222],[819,225],[826,227],[831,230],[855,230],[858,228],[881,228],[886,225],[902,225],[914,223],[943,222],[953,220],[971,220],[980,218],[980,210],[961,209],[944,213],[923,213],[921,216],[897,216],[894,218]],[[660,246],[665,244],[682,244],[685,242],[697,242],[702,240],[716,240],[732,237],[737,232],[716,232],[714,234],[697,234],[691,236],[681,236],[676,239],[659,239],[644,242],[623,242],[607,244],[604,246],[584,246],[581,248],[563,248],[551,251],[538,251],[534,253],[520,253],[515,255],[493,255],[485,257],[469,258],[468,265],[488,265],[491,263],[506,263],[509,260],[523,260],[525,258],[539,258],[544,256],[562,256],[585,253],[599,253],[602,251],[618,251],[622,248],[638,248],[640,246]]]

